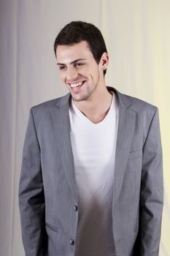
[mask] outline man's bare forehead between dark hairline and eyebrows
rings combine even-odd
[[[74,59],[90,59],[93,58],[93,54],[88,42],[81,41],[73,45],[58,45],[56,57],[58,62],[67,62],[74,61]]]

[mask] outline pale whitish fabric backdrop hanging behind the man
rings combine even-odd
[[[101,29],[110,66],[107,85],[158,105],[164,153],[161,256],[170,255],[169,0],[0,1],[0,255],[24,255],[18,181],[28,110],[67,91],[53,42],[71,20]]]

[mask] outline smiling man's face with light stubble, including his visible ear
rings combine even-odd
[[[74,101],[93,97],[104,79],[103,68],[97,64],[86,41],[74,45],[58,45],[57,64],[61,80],[66,84]]]

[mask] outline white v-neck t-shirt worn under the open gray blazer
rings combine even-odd
[[[113,256],[112,197],[118,108],[115,94],[98,124],[72,103],[70,138],[78,192],[76,256]]]

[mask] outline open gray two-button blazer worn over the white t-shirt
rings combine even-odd
[[[109,90],[119,106],[110,223],[113,256],[158,256],[163,209],[158,108]],[[74,256],[79,202],[69,99],[66,94],[30,110],[19,188],[26,256]]]

